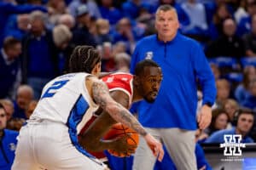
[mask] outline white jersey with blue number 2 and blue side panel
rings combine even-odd
[[[91,75],[71,73],[48,82],[30,120],[61,122],[79,134],[98,109],[85,87],[85,78],[88,76]]]

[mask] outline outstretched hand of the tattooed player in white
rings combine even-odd
[[[154,139],[154,137],[149,133],[144,136],[144,139],[146,140],[149,148],[153,151],[154,156],[157,157],[158,161],[162,161],[165,153],[163,150],[163,145]]]

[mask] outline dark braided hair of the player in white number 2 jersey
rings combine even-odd
[[[91,46],[78,46],[73,49],[69,59],[68,72],[90,73],[94,66],[101,61],[101,54]]]

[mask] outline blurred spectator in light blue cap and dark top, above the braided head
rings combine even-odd
[[[90,14],[86,5],[81,5],[76,10],[77,26],[73,29],[72,47],[90,45],[96,47],[96,41],[90,33]]]

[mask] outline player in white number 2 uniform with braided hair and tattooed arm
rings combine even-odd
[[[81,128],[99,106],[116,122],[143,135],[154,156],[161,160],[164,151],[160,142],[111,98],[106,84],[97,78],[101,71],[99,52],[89,46],[79,46],[74,49],[69,63],[73,73],[46,84],[35,111],[21,128],[12,169],[106,169],[78,141]],[[84,136],[80,139],[83,141]]]

